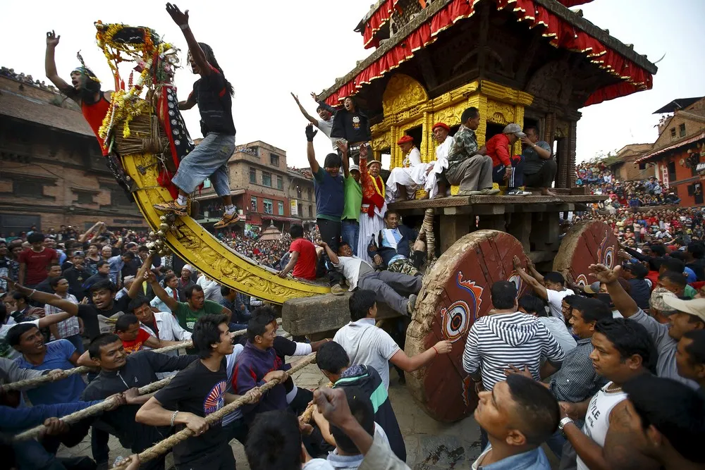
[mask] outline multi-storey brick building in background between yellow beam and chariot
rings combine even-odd
[[[274,223],[287,230],[292,223],[312,226],[316,203],[312,180],[286,164],[286,151],[257,140],[235,149],[228,162],[233,203],[245,223],[268,227]],[[198,221],[209,225],[222,214],[221,199],[209,181],[197,196]]]

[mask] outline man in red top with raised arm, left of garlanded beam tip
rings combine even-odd
[[[57,36],[54,31],[47,32],[47,54],[44,56],[44,69],[47,78],[56,85],[61,93],[81,106],[81,113],[98,139],[103,156],[107,156],[109,151],[104,147],[98,130],[103,124],[103,118],[108,113],[113,92],[101,91],[98,78],[90,68],[85,67],[82,63],[71,72],[71,85],[59,77],[59,73],[56,72],[56,61],[54,61],[54,51],[59,45],[59,39],[61,36]]]

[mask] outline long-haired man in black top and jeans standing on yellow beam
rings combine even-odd
[[[208,44],[196,42],[188,27],[188,10],[183,13],[178,6],[166,4],[174,23],[183,31],[188,43],[188,62],[191,70],[201,76],[193,84],[193,91],[178,109],[191,109],[195,104],[201,115],[201,132],[204,139],[181,161],[171,183],[178,187],[178,199],[164,204],[154,204],[157,211],[187,216],[188,195],[210,178],[213,188],[223,199],[225,212],[214,228],[225,228],[239,220],[233,205],[228,181],[228,160],[235,151],[235,124],[233,123],[233,85],[226,80],[213,49]]]

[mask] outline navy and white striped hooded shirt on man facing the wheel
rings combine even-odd
[[[492,390],[497,382],[505,380],[509,366],[529,367],[540,380],[541,357],[549,361],[563,361],[563,349],[536,317],[516,312],[494,314],[477,319],[467,334],[462,369],[477,373],[482,369],[482,385]]]

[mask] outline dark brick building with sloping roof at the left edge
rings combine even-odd
[[[137,206],[107,170],[72,101],[3,68],[0,73],[0,233],[96,221],[146,230]]]

